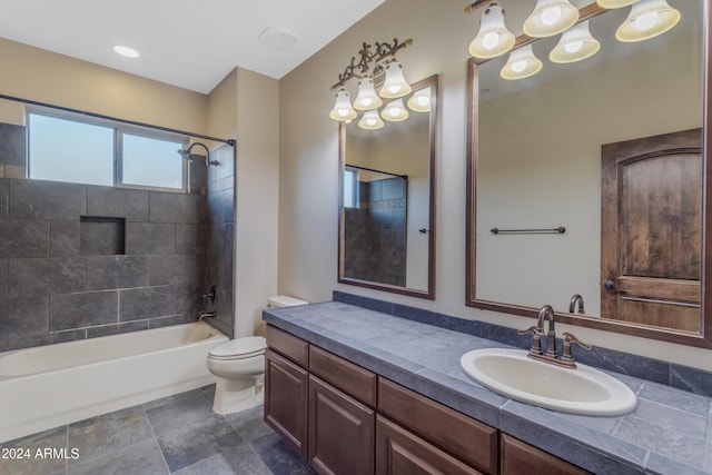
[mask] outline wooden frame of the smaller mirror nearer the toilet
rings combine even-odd
[[[353,277],[344,276],[344,171],[346,169],[346,126],[344,122],[338,125],[338,283],[348,284],[359,287],[367,287],[394,294],[408,295],[412,297],[426,298],[435,300],[435,184],[437,169],[437,123],[438,123],[438,96],[439,96],[439,77],[438,75],[429,76],[411,85],[413,91],[422,88],[432,87],[431,95],[431,118],[429,118],[429,210],[428,210],[428,258],[427,258],[427,289],[421,290],[404,286],[390,284],[380,284],[372,280],[362,280]]]

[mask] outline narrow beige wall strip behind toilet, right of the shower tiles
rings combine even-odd
[[[237,72],[235,336],[263,333],[261,310],[277,294],[279,212],[278,81]]]

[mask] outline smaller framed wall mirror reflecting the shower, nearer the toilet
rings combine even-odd
[[[339,125],[339,283],[435,298],[437,82],[413,85],[403,103],[425,95],[429,108],[403,121]]]

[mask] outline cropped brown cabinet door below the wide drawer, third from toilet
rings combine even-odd
[[[398,425],[376,417],[376,475],[481,475]]]

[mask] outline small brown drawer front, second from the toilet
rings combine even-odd
[[[319,347],[309,347],[309,373],[376,407],[376,375]]]

